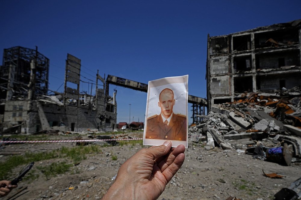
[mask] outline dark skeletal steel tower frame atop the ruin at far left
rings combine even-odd
[[[36,49],[15,46],[4,49],[0,67],[0,99],[27,97],[30,89],[30,62],[35,63],[34,96],[47,94],[49,59]],[[11,95],[8,95],[11,93]]]

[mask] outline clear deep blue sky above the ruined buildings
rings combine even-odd
[[[0,54],[23,46],[50,59],[49,88],[62,92],[65,60],[82,60],[81,75],[97,70],[147,83],[189,74],[189,94],[206,98],[207,34],[217,36],[301,19],[301,1],[0,1]],[[81,77],[84,81],[89,81]],[[117,123],[144,121],[146,93],[117,89]],[[88,91],[80,84],[80,91]],[[95,86],[93,88],[95,94]],[[188,113],[191,117],[191,105]],[[189,118],[189,123],[192,119]]]

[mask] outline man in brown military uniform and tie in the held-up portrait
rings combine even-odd
[[[174,105],[173,91],[163,89],[158,102],[161,113],[147,118],[146,139],[186,141],[186,116],[173,113]]]

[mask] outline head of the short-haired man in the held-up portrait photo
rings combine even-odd
[[[158,106],[161,108],[162,115],[167,119],[172,114],[172,107],[175,105],[175,100],[170,91],[163,92],[160,95]]]

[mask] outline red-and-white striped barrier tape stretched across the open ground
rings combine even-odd
[[[116,140],[142,140],[143,138],[129,139],[91,139],[91,140],[33,140],[33,141],[0,141],[0,143],[47,143],[47,142],[98,142],[98,141],[116,141]]]

